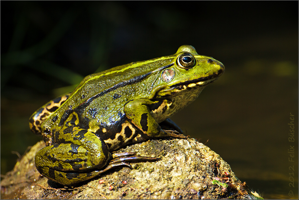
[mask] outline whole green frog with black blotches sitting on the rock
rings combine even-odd
[[[132,168],[129,162],[159,160],[113,152],[149,139],[186,139],[170,117],[224,70],[213,57],[183,45],[170,56],[86,76],[72,92],[30,117],[30,129],[46,144],[36,153],[36,169],[54,182],[73,186],[115,167]]]

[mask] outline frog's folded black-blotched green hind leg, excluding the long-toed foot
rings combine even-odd
[[[111,154],[106,143],[94,133],[68,126],[55,134],[54,144],[35,156],[37,170],[62,185],[72,185],[98,176]]]

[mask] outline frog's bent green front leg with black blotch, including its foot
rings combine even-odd
[[[175,130],[163,130],[154,119],[152,113],[164,112],[168,105],[167,100],[151,101],[148,99],[134,99],[128,101],[124,106],[124,113],[135,129],[139,131],[136,141],[149,138],[186,138]],[[161,120],[163,121],[163,120]],[[133,141],[134,142],[134,141]]]

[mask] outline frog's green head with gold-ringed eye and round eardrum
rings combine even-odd
[[[195,48],[189,45],[179,47],[169,67],[160,71],[156,82],[155,97],[171,97],[179,94],[198,93],[207,84],[216,81],[224,72],[221,62],[212,57],[198,55]]]

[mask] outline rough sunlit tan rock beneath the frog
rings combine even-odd
[[[72,188],[42,177],[34,156],[45,144],[34,145],[1,181],[1,198],[29,199],[217,199],[244,198],[250,191],[229,164],[197,140],[156,139],[121,148],[154,162],[118,167]]]

